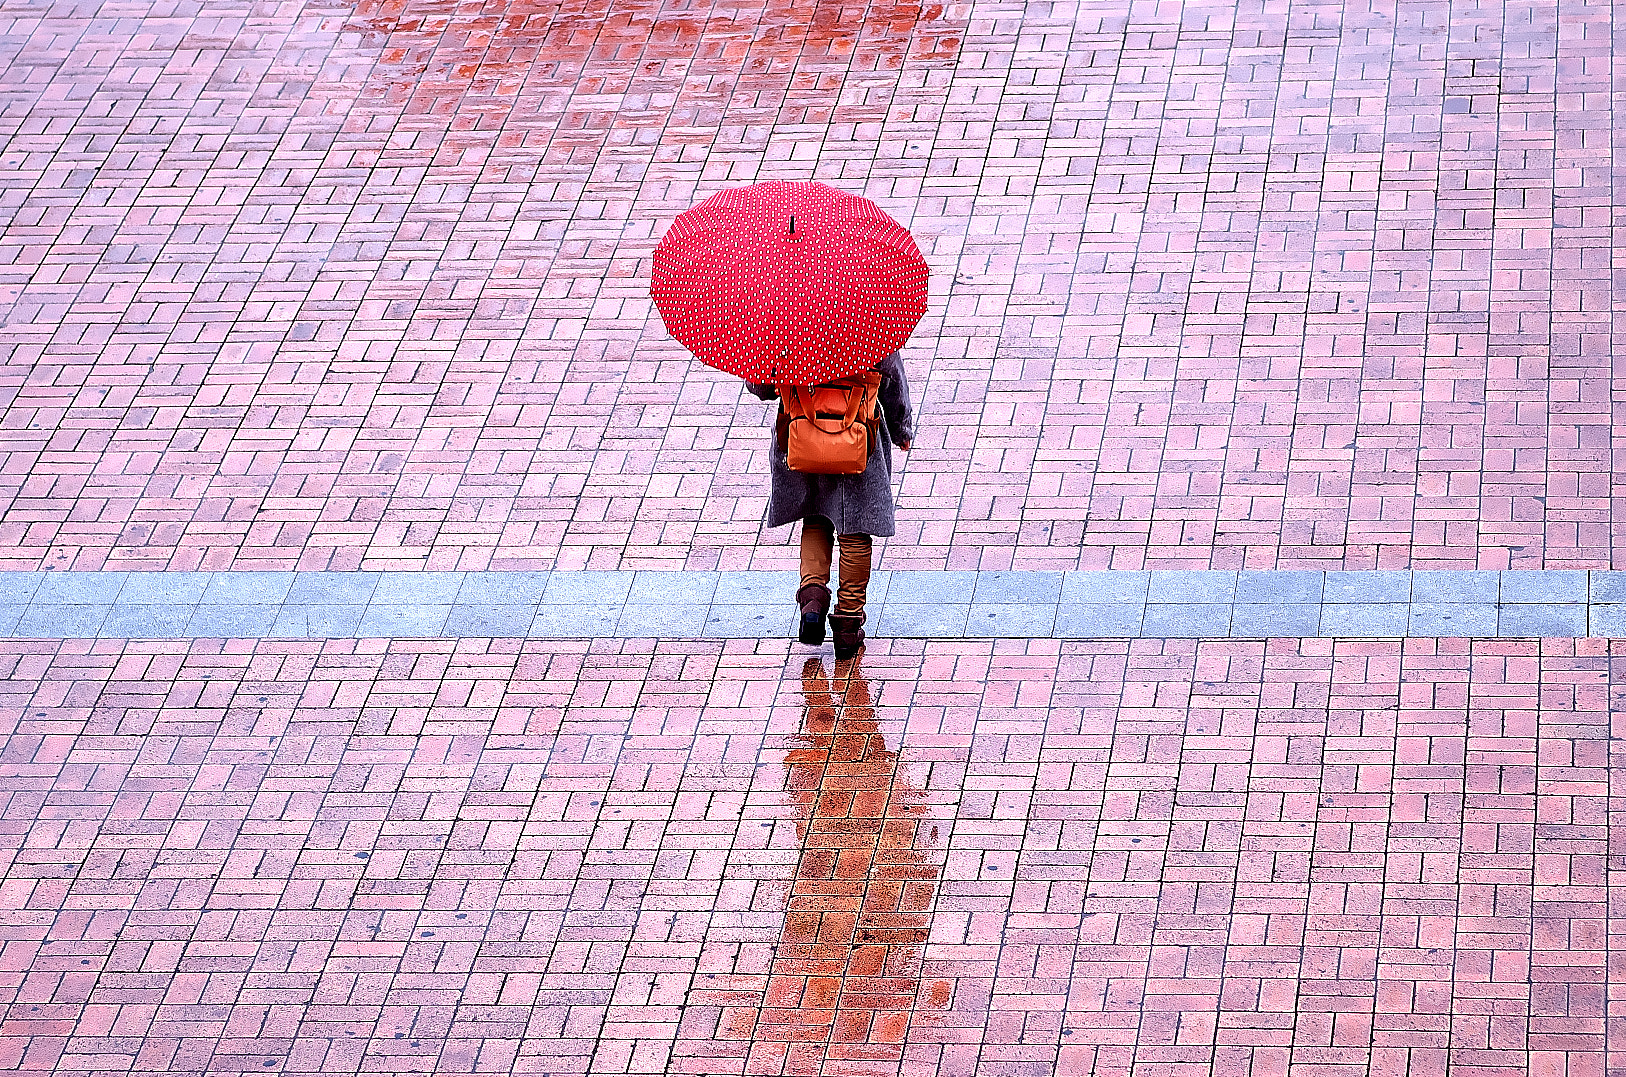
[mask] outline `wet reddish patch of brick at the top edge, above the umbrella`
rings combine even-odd
[[[524,129],[563,114],[572,117],[566,140],[611,125],[761,124],[764,106],[795,114],[790,122],[813,114],[828,122],[850,76],[951,62],[964,18],[914,0],[777,0],[754,10],[689,0],[363,0],[345,29],[379,50],[356,111],[406,124],[380,163],[476,166],[485,158],[468,158],[470,145],[499,132],[512,145],[493,145],[498,158],[512,164],[527,146],[540,156],[548,137]],[[587,98],[572,102],[579,94]],[[883,116],[885,107],[849,119]],[[452,151],[437,153],[442,140]]]

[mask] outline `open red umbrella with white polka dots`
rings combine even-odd
[[[672,223],[649,293],[702,363],[758,384],[873,368],[925,314],[925,259],[868,198],[816,182],[724,190]]]

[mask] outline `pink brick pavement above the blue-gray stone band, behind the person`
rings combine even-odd
[[[935,270],[888,566],[1626,568],[1608,3],[91,11],[0,10],[0,566],[784,566],[646,277],[820,177]]]

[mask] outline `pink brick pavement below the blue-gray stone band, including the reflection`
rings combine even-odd
[[[1621,1062],[1605,641],[0,654],[13,1069]]]

